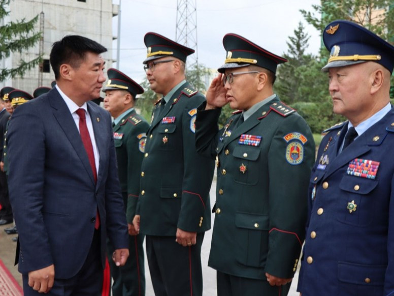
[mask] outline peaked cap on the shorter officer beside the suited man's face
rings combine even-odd
[[[110,90],[123,90],[133,95],[134,99],[138,94],[144,93],[144,88],[132,78],[123,74],[119,70],[110,68],[107,71],[108,81],[103,92]]]

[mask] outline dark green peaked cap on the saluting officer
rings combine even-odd
[[[237,34],[229,33],[223,37],[223,46],[227,52],[224,65],[218,71],[224,73],[226,69],[255,65],[276,73],[278,64],[287,60],[264,48],[254,44]]]

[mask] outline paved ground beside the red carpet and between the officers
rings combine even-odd
[[[211,188],[211,205],[214,204],[215,201],[215,189],[216,182],[212,183]],[[212,223],[214,219],[214,214],[212,214]],[[11,225],[11,224],[10,224]],[[12,237],[15,235],[7,235],[4,232],[4,228],[9,227],[10,225],[0,226],[0,258],[13,274],[15,279],[22,285],[22,277],[17,271],[17,268],[14,267],[14,259],[15,259],[15,248],[16,243],[12,242]],[[203,276],[204,276],[204,296],[216,296],[216,272],[208,267],[208,256],[209,249],[211,244],[212,231],[207,231],[204,237],[204,243],[202,248],[202,264],[203,264]],[[146,260],[145,260],[146,261]],[[149,268],[147,262],[145,262],[145,270],[146,270],[146,296],[153,296],[153,288],[150,281],[149,276]],[[299,293],[295,291],[297,287],[298,273],[295,274],[295,278],[290,288],[289,296],[298,296]]]

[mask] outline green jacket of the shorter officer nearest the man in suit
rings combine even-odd
[[[149,124],[133,109],[114,126],[116,159],[125,200],[127,223],[133,224],[140,192],[140,168],[144,158],[146,132]]]

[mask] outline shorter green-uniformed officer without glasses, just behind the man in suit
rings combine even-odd
[[[118,162],[119,181],[126,209],[129,238],[129,257],[117,267],[111,259],[114,248],[108,242],[113,296],[145,295],[144,235],[133,226],[140,192],[140,169],[144,157],[146,132],[149,124],[137,114],[134,105],[144,89],[133,79],[116,69],[108,69],[104,88],[104,108],[114,117],[113,130]]]

